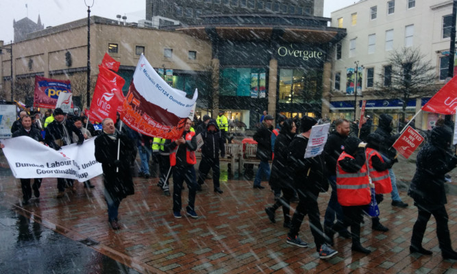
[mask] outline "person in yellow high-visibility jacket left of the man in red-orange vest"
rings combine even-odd
[[[165,138],[154,137],[152,140],[152,158],[159,163],[160,169],[160,179],[158,186],[162,188],[165,196],[170,196],[170,187],[169,187],[169,169],[170,169],[170,153],[165,151]]]

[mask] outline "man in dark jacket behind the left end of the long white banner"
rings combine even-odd
[[[30,116],[25,114],[25,116],[22,116],[21,118],[22,126],[20,129],[16,130],[16,132],[13,132],[12,137],[18,137],[18,136],[29,136],[30,138],[36,140],[37,142],[42,143],[43,145],[45,144],[45,140],[43,140],[41,136],[41,132],[36,129],[35,127],[32,127],[32,119]],[[30,179],[23,179],[21,178],[21,188],[22,188],[22,194],[23,194],[23,205],[27,205],[29,203],[29,199],[32,198],[32,189],[34,190],[34,195],[35,197],[40,197],[40,186],[41,186],[41,178],[35,178],[34,179],[34,184],[32,185],[32,188],[30,188]]]

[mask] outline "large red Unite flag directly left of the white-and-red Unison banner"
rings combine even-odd
[[[101,122],[106,118],[116,121],[116,112],[121,110],[124,101],[122,87],[125,80],[103,66],[99,66],[99,71],[94,96],[90,103],[90,121]]]

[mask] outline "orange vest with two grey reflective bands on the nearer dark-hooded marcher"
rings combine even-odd
[[[364,206],[371,201],[371,192],[369,188],[369,177],[367,165],[364,164],[357,173],[343,171],[340,166],[340,160],[344,158],[354,159],[345,151],[341,153],[336,162],[336,195],[338,203],[341,206]]]

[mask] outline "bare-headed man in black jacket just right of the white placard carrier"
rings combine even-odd
[[[344,215],[341,205],[338,203],[338,197],[336,196],[336,161],[344,149],[344,142],[349,136],[350,125],[346,119],[338,119],[335,121],[335,131],[328,136],[327,142],[323,149],[323,155],[325,156],[325,164],[327,165],[328,171],[328,182],[332,186],[332,193],[328,201],[327,210],[325,210],[325,216],[323,221],[323,227],[326,232],[334,225],[335,215],[336,221],[343,222]],[[338,234],[344,238],[351,238],[347,229],[342,229]]]

